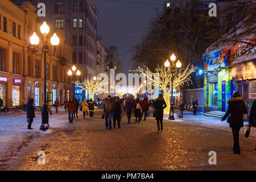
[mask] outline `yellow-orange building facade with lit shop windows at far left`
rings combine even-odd
[[[29,38],[40,35],[35,7],[31,3],[15,5],[9,0],[0,2],[0,97],[4,107],[18,107],[29,98],[36,106],[43,104],[43,56],[36,56]],[[63,103],[70,97],[71,84],[64,74],[71,66],[72,47],[65,42],[63,32],[57,32],[60,44],[53,57],[47,57],[47,100],[52,104],[57,97]],[[52,36],[52,31],[49,32]],[[39,36],[42,38],[41,36]],[[37,49],[40,48],[40,44]],[[39,50],[39,49],[38,49]],[[51,53],[54,52],[53,47]],[[70,64],[70,65],[69,65]]]

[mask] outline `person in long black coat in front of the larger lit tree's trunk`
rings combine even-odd
[[[162,119],[164,117],[164,109],[166,107],[167,106],[166,106],[164,97],[162,97],[162,94],[159,94],[159,97],[155,101],[155,115],[156,115],[157,131],[160,131],[160,125],[161,125],[161,131],[163,130]]]

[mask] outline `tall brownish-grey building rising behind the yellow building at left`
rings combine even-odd
[[[15,0],[22,2],[22,0]],[[30,0],[37,7],[40,0]],[[74,50],[72,63],[82,72],[81,78],[96,76],[97,9],[92,0],[44,0],[45,20],[54,31],[65,33],[67,44]]]

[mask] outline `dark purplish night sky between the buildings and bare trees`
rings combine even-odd
[[[125,2],[123,2],[125,1]],[[131,48],[145,35],[148,22],[162,11],[166,0],[94,0],[99,11],[98,35],[103,46],[117,46],[121,52],[122,72],[132,69]]]

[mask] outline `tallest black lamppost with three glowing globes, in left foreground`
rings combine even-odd
[[[43,111],[42,111],[42,125],[40,126],[40,130],[47,130],[48,127],[46,127],[46,124],[48,124],[48,110],[47,110],[47,100],[46,100],[46,54],[48,56],[54,56],[55,52],[56,52],[56,46],[59,45],[59,38],[58,36],[54,33],[54,35],[52,35],[51,39],[50,39],[50,43],[47,40],[47,35],[50,31],[50,28],[48,27],[48,25],[46,24],[46,22],[43,22],[42,26],[40,27],[40,32],[43,35],[43,40],[41,42],[42,47],[40,49],[40,51],[42,53],[37,54],[37,50],[35,49],[33,51],[33,53],[35,53],[36,56],[42,56],[44,57],[44,82],[43,82],[43,97],[44,97],[44,102],[43,102]],[[39,43],[39,37],[36,35],[36,33],[34,32],[34,34],[30,37],[30,43],[31,45],[38,45]],[[50,48],[49,45],[54,46],[54,54],[51,55],[50,52]]]

